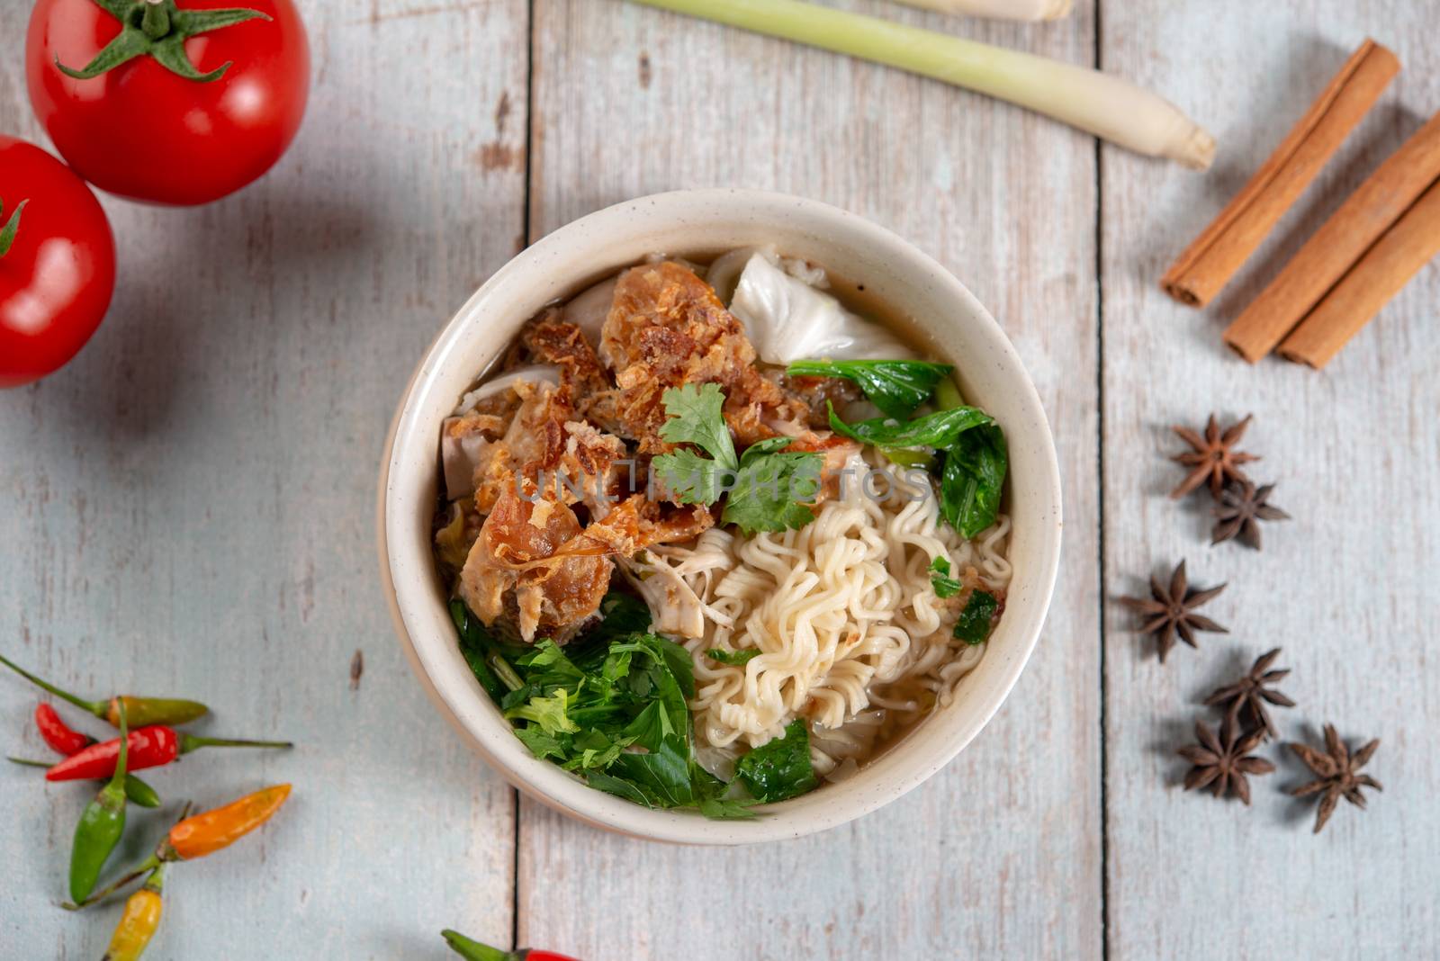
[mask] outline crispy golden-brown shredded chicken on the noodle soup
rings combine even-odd
[[[590,621],[612,558],[629,564],[647,547],[714,524],[710,508],[642,492],[635,468],[671,447],[660,437],[667,388],[720,384],[737,447],[788,436],[825,455],[821,498],[858,449],[811,426],[812,398],[756,367],[743,325],[684,265],[647,263],[618,278],[599,351],[564,316],[546,309],[510,354],[513,364],[559,368],[559,386],[517,381],[484,410],[448,420],[442,434],[448,493],[472,495],[467,509],[482,518],[458,593],[487,626],[526,642],[564,643]]]

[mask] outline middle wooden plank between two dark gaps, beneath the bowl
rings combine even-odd
[[[1014,24],[847,3],[1089,63],[1089,4]],[[585,958],[1100,954],[1094,147],[935,82],[605,0],[539,0],[531,234],[658,190],[816,197],[948,263],[1063,439],[1066,561],[1009,702],[940,775],[783,847],[672,849],[521,803],[520,942]],[[583,78],[583,81],[580,79]]]

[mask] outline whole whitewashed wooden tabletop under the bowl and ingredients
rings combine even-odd
[[[1240,305],[1440,108],[1431,0],[1083,0],[1047,26],[835,0],[1099,63],[1221,144],[1208,176],[894,70],[619,0],[311,0],[315,86],[264,181],[197,210],[107,200],[121,286],[62,374],[0,396],[0,649],[91,692],[202,696],[206,731],[285,735],[153,781],[297,793],[173,872],[157,958],[439,958],[436,931],[631,958],[1440,957],[1440,269],[1325,373],[1220,345]],[[23,33],[24,3],[0,10]],[[1405,65],[1207,312],[1156,288],[1365,36]],[[0,129],[37,142],[20,58]],[[1009,332],[1066,486],[1048,627],[940,775],[855,824],[687,850],[518,800],[436,718],[376,575],[380,445],[413,361],[527,240],[609,203],[744,186],[848,207],[937,256]],[[1295,521],[1263,555],[1165,498],[1171,423],[1253,411]],[[1198,504],[1198,502],[1197,502]],[[1189,558],[1233,633],[1161,666],[1103,600]],[[1282,645],[1286,739],[1380,737],[1371,810],[1184,794],[1197,701]],[[364,672],[351,682],[363,652]],[[6,751],[42,751],[0,678]],[[23,734],[22,734],[23,732]],[[0,770],[0,957],[98,957],[117,909],[59,911],[84,791]],[[161,829],[145,826],[128,855]],[[141,840],[140,837],[147,840]],[[128,860],[128,857],[127,857]]]

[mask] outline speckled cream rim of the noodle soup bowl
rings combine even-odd
[[[693,216],[697,206],[711,203],[744,209],[768,209],[770,213],[776,213],[780,209],[791,211],[798,209],[806,216],[829,220],[838,229],[861,234],[864,240],[886,249],[887,259],[912,259],[916,266],[926,270],[935,283],[943,288],[940,291],[942,296],[952,298],[965,308],[972,322],[979,327],[976,334],[989,342],[989,347],[996,351],[1005,367],[1018,374],[1014,384],[1020,391],[1018,403],[1025,409],[1025,417],[1032,432],[1035,432],[1035,439],[1040,442],[1041,463],[1038,465],[1038,479],[1044,488],[1040,492],[1044,516],[1040,518],[1043,524],[1040,525],[1038,557],[1031,560],[1032,570],[1037,574],[1037,580],[1034,581],[1035,593],[1022,611],[1007,609],[1007,614],[1011,617],[1001,621],[1002,629],[1009,632],[1011,637],[1007,639],[1007,653],[999,683],[989,693],[976,692],[973,695],[982,699],[978,703],[979,709],[972,711],[969,722],[962,724],[948,744],[939,747],[939,750],[930,750],[923,764],[899,771],[896,780],[886,790],[857,794],[848,798],[850,804],[840,806],[838,810],[835,804],[827,804],[816,811],[809,810],[815,807],[809,804],[802,811],[801,803],[822,794],[828,796],[822,800],[829,800],[834,797],[832,791],[844,787],[842,784],[829,785],[825,791],[815,791],[792,801],[760,806],[756,809],[760,813],[760,817],[756,820],[714,821],[694,811],[651,810],[632,804],[586,785],[549,761],[533,758],[520,739],[513,735],[510,725],[500,718],[494,703],[484,695],[468,670],[464,672],[464,678],[449,676],[444,672],[444,665],[433,663],[433,657],[431,656],[433,642],[429,646],[423,643],[423,639],[422,643],[416,643],[413,632],[418,626],[412,624],[412,617],[406,614],[406,609],[415,610],[416,604],[420,607],[426,604],[425,598],[419,598],[419,594],[425,593],[423,586],[419,583],[419,578],[412,577],[406,580],[403,570],[397,570],[397,567],[402,567],[402,563],[392,547],[396,542],[403,544],[405,539],[400,529],[406,522],[403,516],[405,511],[392,511],[392,506],[395,506],[392,501],[396,498],[395,478],[397,472],[405,469],[402,463],[403,452],[397,446],[397,440],[416,432],[416,420],[419,419],[418,387],[426,378],[428,373],[433,373],[439,367],[448,351],[455,348],[461,335],[482,315],[481,308],[485,301],[497,291],[503,291],[505,285],[516,283],[527,276],[528,272],[541,269],[547,258],[562,256],[566,243],[572,237],[582,236],[586,230],[603,233],[611,226],[616,229],[634,229],[632,219],[639,210],[644,210],[644,216],[647,217],[665,217],[677,213]],[[573,279],[579,281],[583,278],[576,276]],[[554,230],[495,270],[441,328],[410,374],[390,420],[380,460],[376,496],[376,532],[382,588],[406,660],[409,660],[416,679],[441,715],[511,785],[523,791],[527,797],[566,816],[595,827],[638,839],[680,844],[762,843],[801,837],[837,827],[897,800],[950,762],[989,724],[1001,703],[1009,696],[1009,692],[1028,663],[1054,594],[1061,542],[1060,466],[1054,437],[1040,394],[1018,351],[989,311],[937,260],[886,227],[816,200],[785,193],[743,188],[674,190],[612,204]],[[1018,637],[1014,634],[1018,634]],[[445,642],[454,649],[454,633],[446,633]],[[989,650],[986,656],[992,657],[995,652]],[[436,669],[439,669],[441,676],[436,676]],[[976,705],[972,703],[971,706],[975,708]],[[926,722],[932,719],[927,718]],[[505,735],[504,738],[495,737],[501,732]],[[487,737],[490,742],[487,742]],[[904,752],[906,745],[900,744],[891,748],[884,757],[888,758]],[[801,814],[809,814],[811,817],[806,819]]]

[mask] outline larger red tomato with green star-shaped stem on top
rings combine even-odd
[[[120,35],[121,22],[96,0],[35,4],[26,40],[30,104],[60,155],[101,190],[164,204],[209,203],[269,170],[300,129],[310,46],[291,0],[181,4],[183,12],[258,10],[269,20],[184,42],[202,73],[233,60],[216,81],[186,79],[150,55],[79,81],[56,59],[84,68]]]

